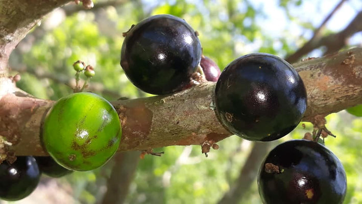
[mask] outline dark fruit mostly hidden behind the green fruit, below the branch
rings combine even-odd
[[[36,156],[35,159],[41,173],[50,177],[58,178],[73,172],[60,166],[51,156]]]

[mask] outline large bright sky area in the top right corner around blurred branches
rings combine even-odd
[[[340,1],[341,0],[304,0],[300,7],[291,7],[290,12],[292,12],[293,15],[299,16],[300,19],[312,22],[313,26],[319,27],[324,18]],[[263,8],[262,10],[267,14],[267,19],[258,19],[259,24],[263,25],[262,27],[267,33],[277,36],[278,30],[275,29],[275,25],[278,25],[280,28],[293,30],[296,35],[302,34],[303,31],[296,24],[288,24],[285,12],[278,6],[279,1],[254,0],[251,1],[251,3],[258,8]],[[327,29],[334,32],[344,29],[360,10],[362,10],[361,0],[346,1],[328,21],[326,25]],[[303,34],[308,39],[312,37],[312,32]],[[351,39],[352,44],[360,42],[362,42],[362,32],[359,32]]]

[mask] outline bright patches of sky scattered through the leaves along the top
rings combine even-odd
[[[191,4],[202,4],[202,0],[185,0]],[[219,0],[214,0],[219,1]],[[310,39],[313,35],[313,31],[306,31],[301,28],[296,22],[291,22],[287,17],[287,14],[283,9],[279,7],[279,2],[281,0],[249,0],[249,3],[254,5],[254,8],[260,8],[266,17],[258,16],[256,18],[257,24],[262,28],[262,33],[268,34],[271,37],[280,38],[285,35],[283,30],[288,30],[288,34],[294,36],[290,39],[298,39],[299,36],[303,36],[305,39]],[[296,2],[297,0],[290,0],[291,2]],[[143,0],[147,3],[149,7],[153,7],[158,4],[156,0]],[[176,3],[175,0],[168,1],[170,4]],[[298,19],[302,21],[311,22],[313,27],[318,28],[325,17],[334,9],[334,7],[339,4],[341,0],[302,0],[300,6],[290,6],[289,12],[293,13]],[[200,9],[204,9],[202,6]],[[246,10],[245,4],[243,1],[240,1],[239,11],[243,12]],[[343,30],[349,22],[355,17],[358,11],[362,10],[362,0],[348,0],[345,1],[342,7],[334,13],[331,19],[327,22],[326,28],[332,32],[339,32]],[[223,14],[220,14],[220,17]],[[244,24],[247,23],[247,20],[244,21]],[[361,22],[362,23],[362,22]],[[349,39],[350,44],[355,46],[362,46],[362,32],[354,34]],[[255,39],[253,42],[242,44],[242,46],[236,47],[236,53],[250,53],[255,52],[262,46],[263,41],[261,39]],[[296,47],[302,46],[305,41],[297,40],[292,42],[296,44]],[[281,50],[280,47],[282,43],[276,40],[273,44],[275,50]],[[286,53],[279,53],[280,55],[285,55]],[[319,57],[321,56],[322,50],[314,50],[309,53],[310,57]]]

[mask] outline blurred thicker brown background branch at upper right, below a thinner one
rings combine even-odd
[[[308,42],[304,44],[303,47],[298,49],[294,54],[286,57],[286,61],[289,63],[297,62],[302,56],[308,54],[312,50],[319,48],[321,46],[326,47],[325,54],[331,54],[339,51],[344,46],[346,46],[346,40],[352,36],[354,33],[362,31],[362,11],[360,11],[350,24],[338,33],[333,33],[324,37],[313,37]]]

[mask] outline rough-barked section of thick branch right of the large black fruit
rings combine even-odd
[[[362,103],[362,49],[293,64],[308,94],[303,121]]]

